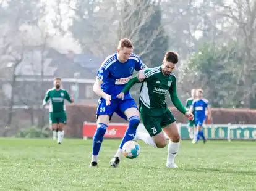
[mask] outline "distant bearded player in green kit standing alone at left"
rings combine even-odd
[[[43,99],[43,107],[50,100],[49,105],[49,124],[52,131],[58,131],[58,144],[61,144],[64,137],[64,126],[67,124],[66,107],[64,100],[68,100],[70,103],[74,102],[71,99],[66,89],[61,89],[61,78],[54,79],[54,87],[48,89]]]

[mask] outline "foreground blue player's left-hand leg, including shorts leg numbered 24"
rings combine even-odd
[[[97,108],[97,129],[93,136],[92,145],[92,160],[90,166],[97,166],[98,164],[98,154],[100,152],[101,144],[103,142],[103,137],[105,135],[106,129],[108,128],[109,120],[114,113],[116,108],[115,100],[111,100],[111,105],[106,105],[105,99],[99,99],[99,105]]]

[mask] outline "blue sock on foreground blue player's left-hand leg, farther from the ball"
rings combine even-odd
[[[96,156],[100,152],[101,143],[103,141],[103,136],[106,132],[106,128],[108,126],[104,123],[98,123],[97,129],[95,131],[95,134],[93,136],[93,153],[92,155]]]

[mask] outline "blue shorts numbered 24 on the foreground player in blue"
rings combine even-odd
[[[124,120],[127,120],[126,115],[124,115],[124,111],[127,110],[127,108],[137,108],[136,102],[134,99],[113,99],[111,100],[110,105],[106,106],[106,101],[103,97],[101,97],[98,100],[98,108],[97,108],[97,118],[99,115],[109,115],[109,119],[111,120],[111,117],[114,112],[117,113],[117,115],[121,116],[121,118],[124,118]]]

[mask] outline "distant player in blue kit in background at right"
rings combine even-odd
[[[211,120],[211,110],[208,107],[208,100],[203,98],[202,89],[197,89],[197,97],[198,99],[194,100],[190,109],[190,112],[194,112],[195,114],[195,125],[197,126],[197,131],[195,132],[195,139],[193,140],[193,143],[197,143],[200,137],[203,138],[203,142],[205,143],[206,139],[203,134],[203,124],[205,123],[207,115]]]

